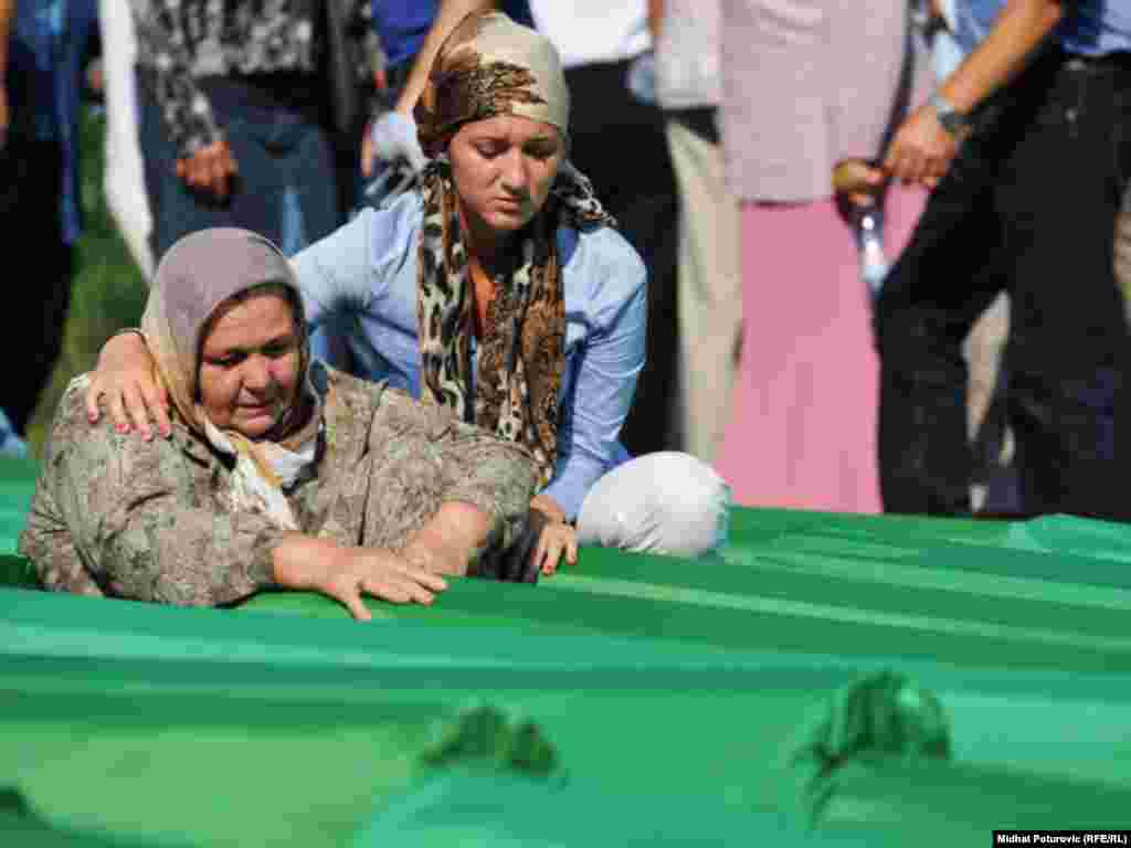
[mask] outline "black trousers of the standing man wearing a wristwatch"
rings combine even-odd
[[[1022,512],[1125,517],[1115,406],[1128,331],[1112,244],[1129,136],[1131,64],[1119,59],[1050,50],[987,104],[877,304],[887,511],[969,511],[960,347],[1005,289]]]

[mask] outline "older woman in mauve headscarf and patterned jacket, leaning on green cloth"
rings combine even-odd
[[[527,453],[312,364],[293,270],[265,239],[182,239],[143,328],[172,435],[90,427],[87,378],[75,381],[19,545],[45,588],[216,605],[278,586],[368,618],[362,594],[428,604],[439,573],[464,573],[521,526]]]

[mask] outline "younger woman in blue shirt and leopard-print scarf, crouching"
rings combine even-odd
[[[366,375],[530,451],[546,573],[573,559],[575,520],[581,542],[699,554],[726,519],[707,466],[627,462],[618,441],[644,363],[645,269],[564,164],[568,119],[551,44],[504,15],[468,16],[417,105],[433,157],[421,188],[295,260],[310,320],[345,317]],[[115,422],[148,430],[148,407],[162,424],[149,373],[136,337],[114,339],[92,413],[105,393]]]

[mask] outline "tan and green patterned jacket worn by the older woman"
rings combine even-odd
[[[316,365],[316,367],[322,367]],[[287,500],[303,533],[397,548],[446,501],[487,512],[506,544],[534,495],[518,445],[383,384],[326,369],[317,475]],[[59,405],[20,553],[44,588],[178,605],[239,600],[271,585],[285,533],[228,501],[231,460],[174,419],[170,440],[86,419],[87,378]]]

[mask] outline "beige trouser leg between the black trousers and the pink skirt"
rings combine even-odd
[[[667,144],[680,191],[680,415],[687,451],[710,462],[731,413],[742,338],[741,218],[722,148],[676,121],[667,122]]]

